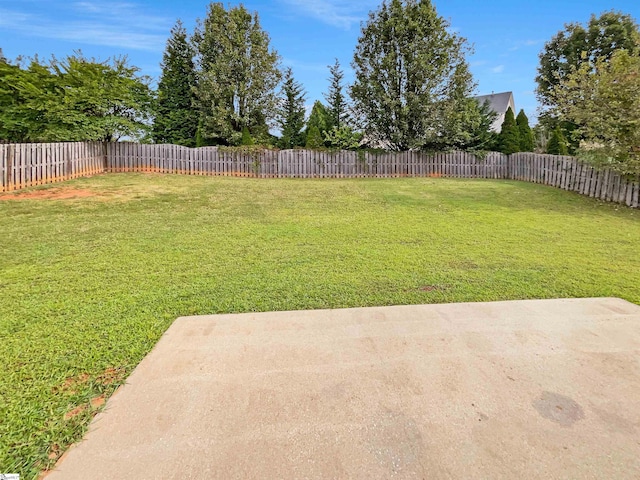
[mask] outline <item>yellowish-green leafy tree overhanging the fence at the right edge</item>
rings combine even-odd
[[[581,156],[640,175],[640,52],[583,63],[554,96],[557,115],[577,127]]]

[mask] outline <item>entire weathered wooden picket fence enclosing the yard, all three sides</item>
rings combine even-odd
[[[464,152],[229,151],[135,143],[0,145],[0,191],[101,172],[259,178],[457,177],[522,180],[638,208],[640,178],[627,179],[573,157]]]

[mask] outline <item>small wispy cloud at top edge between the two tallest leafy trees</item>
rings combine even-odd
[[[300,13],[320,20],[331,26],[349,30],[358,25],[367,16],[367,12],[376,7],[371,0],[280,0]]]

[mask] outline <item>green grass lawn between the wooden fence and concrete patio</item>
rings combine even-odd
[[[550,187],[115,174],[50,188],[94,195],[0,201],[0,472],[24,479],[181,315],[640,304],[640,212]]]

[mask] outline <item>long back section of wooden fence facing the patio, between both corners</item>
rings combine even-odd
[[[112,143],[110,172],[157,172],[259,178],[425,177],[506,178],[507,156],[463,153],[226,150],[216,147]]]

